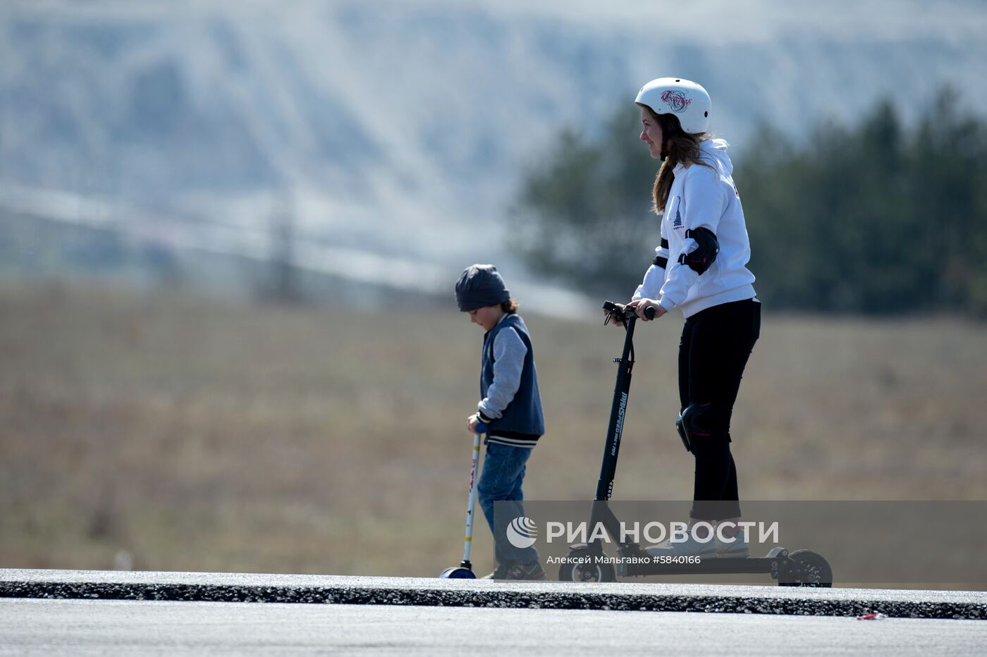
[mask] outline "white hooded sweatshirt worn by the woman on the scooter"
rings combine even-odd
[[[633,301],[656,299],[666,311],[681,308],[689,318],[696,313],[754,297],[754,274],[747,269],[750,241],[744,223],[740,195],[733,184],[733,164],[726,155],[726,142],[713,139],[700,143],[704,162],[675,166],[675,180],[661,216],[661,240],[655,255],[667,259],[667,266],[652,264]],[[682,254],[698,248],[686,230],[705,227],[720,243],[720,255],[702,274],[679,262]]]

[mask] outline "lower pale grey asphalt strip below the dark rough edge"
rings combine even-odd
[[[983,620],[0,599],[0,655],[982,655],[984,646]]]

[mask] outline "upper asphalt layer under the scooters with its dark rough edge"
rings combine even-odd
[[[0,598],[360,604],[987,620],[987,592],[657,583],[495,582],[201,572],[0,569]]]

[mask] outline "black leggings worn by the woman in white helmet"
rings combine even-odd
[[[737,471],[730,454],[730,415],[740,378],[761,334],[761,304],[748,299],[696,313],[682,328],[679,343],[679,400],[710,404],[699,416],[694,437],[696,483],[690,516],[723,520],[740,516]]]

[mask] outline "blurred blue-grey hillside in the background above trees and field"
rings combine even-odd
[[[909,120],[944,82],[987,107],[985,28],[921,0],[8,2],[0,205],[264,255],[288,195],[304,266],[441,289],[514,262],[522,169],[652,77],[701,80],[742,152],[760,121],[797,136],[878,97]]]

